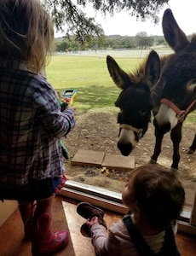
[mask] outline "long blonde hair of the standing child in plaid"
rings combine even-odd
[[[26,61],[39,73],[54,43],[49,14],[38,0],[0,1],[0,55]]]

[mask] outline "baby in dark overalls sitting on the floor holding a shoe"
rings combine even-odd
[[[174,173],[158,165],[137,167],[122,199],[131,214],[108,230],[100,208],[78,204],[77,212],[87,219],[81,232],[91,236],[96,255],[180,255],[171,226],[182,212],[185,192]]]

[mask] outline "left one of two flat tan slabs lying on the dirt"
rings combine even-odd
[[[78,149],[78,152],[73,156],[72,165],[78,166],[100,166],[104,159],[105,153],[101,151],[92,151]]]

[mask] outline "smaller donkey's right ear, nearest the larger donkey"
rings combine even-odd
[[[145,67],[145,80],[150,89],[158,82],[160,76],[160,59],[155,50],[152,50],[147,57]]]

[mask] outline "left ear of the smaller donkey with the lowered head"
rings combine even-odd
[[[113,82],[119,88],[124,90],[124,88],[131,84],[129,75],[125,73],[124,70],[118,66],[117,62],[109,55],[107,55],[107,68]]]

